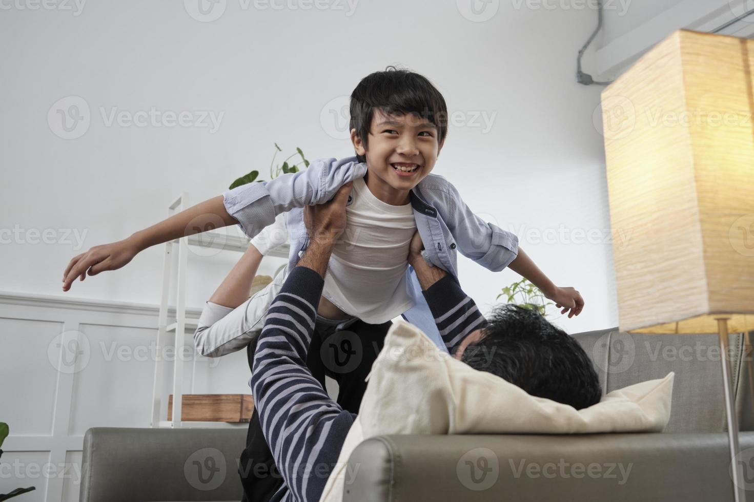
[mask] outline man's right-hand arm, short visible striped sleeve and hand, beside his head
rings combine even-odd
[[[409,247],[409,264],[414,268],[434,322],[450,354],[468,335],[482,328],[486,320],[452,274],[431,267],[421,256],[421,237],[416,232]]]

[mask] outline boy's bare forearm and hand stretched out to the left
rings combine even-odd
[[[74,256],[63,272],[63,291],[71,288],[76,277],[84,280],[87,275],[117,270],[155,244],[237,223],[225,210],[223,196],[212,197],[149,228],[137,231],[124,240],[93,246],[85,253]]]

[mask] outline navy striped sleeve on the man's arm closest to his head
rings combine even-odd
[[[470,332],[480,329],[486,323],[477,304],[464,293],[452,274],[447,274],[422,294],[451,354]]]

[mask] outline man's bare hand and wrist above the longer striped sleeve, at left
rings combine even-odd
[[[340,187],[333,200],[325,204],[304,207],[304,224],[309,245],[303,258],[299,260],[299,266],[311,268],[323,279],[333,246],[345,230],[345,204],[352,185],[352,182],[348,182]]]

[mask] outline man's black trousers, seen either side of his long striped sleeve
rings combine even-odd
[[[338,382],[338,404],[352,413],[359,412],[361,398],[366,390],[366,375],[372,369],[391,321],[383,324],[367,324],[356,320],[350,326],[336,331],[335,326],[317,322],[311,337],[306,366],[317,381],[325,387],[325,375]],[[247,346],[249,368],[252,367],[255,338]],[[270,448],[262,436],[259,414],[254,409],[246,436],[246,449],[241,453],[238,473],[244,485],[241,502],[268,502],[283,484],[275,467]]]

